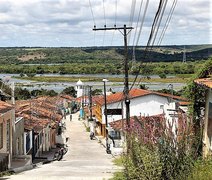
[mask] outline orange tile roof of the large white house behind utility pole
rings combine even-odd
[[[173,98],[176,100],[186,101],[185,98],[180,97],[180,96],[173,96],[171,94],[159,93],[159,92],[154,92],[154,91],[149,91],[149,90],[144,90],[144,89],[132,89],[129,92],[129,98],[133,99],[133,98],[146,96],[146,95],[150,95],[150,94],[155,94],[155,95],[159,95],[159,96]],[[123,92],[117,92],[115,94],[108,95],[106,99],[107,99],[107,104],[116,103],[116,102],[124,100],[124,94],[123,94]],[[104,97],[100,97],[99,99],[96,100],[96,102],[99,103],[100,105],[104,105],[105,104]]]

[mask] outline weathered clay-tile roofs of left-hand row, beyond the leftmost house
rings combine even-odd
[[[58,104],[63,103],[61,97],[39,97],[35,99],[17,101],[16,116],[24,117],[24,128],[40,131],[48,124],[55,127],[62,115],[58,114]]]

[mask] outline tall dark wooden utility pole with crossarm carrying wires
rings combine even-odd
[[[106,30],[119,30],[121,34],[124,36],[124,50],[125,50],[125,61],[124,61],[124,70],[125,70],[125,79],[124,79],[124,96],[125,96],[125,105],[126,105],[126,122],[128,128],[130,127],[130,99],[129,99],[129,65],[128,65],[128,46],[127,46],[127,35],[130,33],[130,31],[133,29],[133,27],[127,27],[124,25],[124,27],[109,27],[107,28],[106,25],[104,28],[96,28],[94,26],[94,31],[106,31]],[[121,31],[123,30],[123,32]],[[129,30],[127,32],[127,30]]]

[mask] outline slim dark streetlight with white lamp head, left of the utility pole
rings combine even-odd
[[[108,154],[111,154],[111,151],[110,151],[110,145],[109,145],[109,143],[108,143],[108,130],[107,130],[107,128],[108,128],[108,124],[107,124],[107,97],[106,97],[106,82],[108,82],[108,80],[107,79],[103,79],[102,80],[103,81],[103,83],[104,83],[104,100],[105,100],[105,110],[104,110],[104,114],[105,114],[105,126],[106,126],[106,128],[105,128],[105,136],[106,136],[106,152],[108,153]]]

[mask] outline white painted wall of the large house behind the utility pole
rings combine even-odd
[[[130,100],[130,116],[152,116],[163,113],[161,105],[169,102],[167,97],[150,94]],[[107,104],[107,109],[122,108],[122,102]],[[125,103],[123,102],[123,118],[125,118]],[[102,124],[105,124],[104,105],[102,106]],[[122,119],[121,115],[108,115],[108,123]]]

